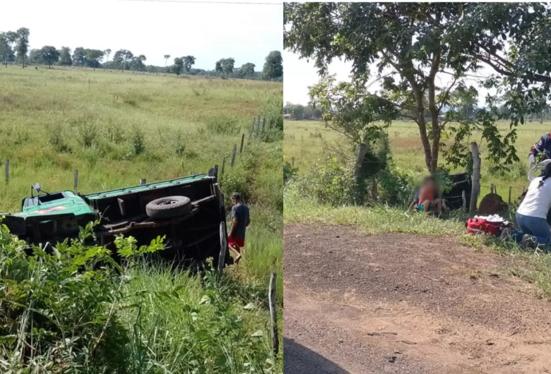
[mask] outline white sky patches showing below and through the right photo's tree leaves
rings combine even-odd
[[[282,53],[283,56],[283,71],[285,74],[285,83],[283,85],[283,102],[291,102],[292,104],[307,105],[309,102],[308,87],[315,85],[319,81],[317,69],[314,67],[314,61],[300,59],[298,54],[295,54],[287,49]],[[335,74],[338,81],[350,81],[350,71],[352,63],[350,61],[333,60],[329,66],[329,73]],[[377,74],[376,69],[372,69],[374,76]],[[384,71],[386,73],[386,71]],[[479,72],[482,76],[488,76],[493,73],[491,68],[482,68]],[[446,87],[451,83],[449,76],[439,74],[437,76],[437,85]],[[467,83],[478,88],[478,105],[485,105],[485,97],[488,90],[478,87],[474,79],[468,79]],[[374,92],[380,90],[381,86],[374,83],[369,86],[369,90]]]

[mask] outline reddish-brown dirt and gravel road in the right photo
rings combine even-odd
[[[551,303],[454,239],[285,227],[285,374],[551,373]]]

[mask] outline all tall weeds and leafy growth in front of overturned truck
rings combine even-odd
[[[2,372],[275,373],[258,289],[142,263],[163,238],[117,237],[117,265],[91,236],[29,257],[0,227]]]

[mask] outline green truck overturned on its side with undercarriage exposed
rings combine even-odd
[[[35,246],[78,237],[79,227],[98,221],[95,240],[112,250],[119,234],[148,245],[165,236],[164,260],[184,265],[221,257],[232,262],[227,248],[224,199],[215,176],[196,174],[141,186],[82,195],[73,191],[47,193],[37,184],[23,198],[22,212],[4,214],[12,234]]]

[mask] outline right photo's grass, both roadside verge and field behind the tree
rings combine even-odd
[[[500,123],[500,128],[506,131],[509,123]],[[521,162],[511,168],[511,172],[505,176],[492,175],[485,163],[486,147],[480,141],[480,137],[474,139],[482,145],[480,153],[482,158],[481,168],[481,196],[490,192],[490,183],[497,186],[497,193],[504,200],[508,199],[509,186],[512,186],[511,200],[521,195],[523,186],[528,186],[526,172],[528,168],[528,151],[536,143],[540,136],[550,131],[551,122],[528,122],[517,129],[518,139],[516,150]],[[388,131],[391,157],[397,167],[415,171],[420,175],[426,175],[425,159],[422,153],[418,129],[415,123],[398,121],[392,123]],[[324,139],[322,140],[320,136]],[[338,145],[343,140],[343,135],[326,130],[324,123],[316,121],[285,121],[284,122],[284,147],[283,152],[286,162],[292,162],[295,158],[295,167],[299,173],[307,172],[314,162],[325,156],[340,156],[331,151],[325,143]],[[343,144],[340,142],[340,144]],[[441,160],[443,162],[443,160]],[[456,170],[460,171],[460,170]],[[451,235],[456,237],[459,243],[468,243],[475,248],[492,248],[492,251],[502,255],[522,258],[530,265],[530,270],[519,271],[510,269],[511,274],[537,284],[541,294],[551,299],[551,254],[541,252],[533,253],[522,251],[514,243],[505,245],[497,243],[493,239],[483,236],[473,236],[465,233],[467,215],[454,212],[449,219],[434,219],[425,215],[417,215],[405,212],[401,207],[388,207],[375,205],[373,207],[343,206],[333,207],[323,205],[314,199],[301,195],[294,183],[285,188],[285,215],[284,224],[344,224],[352,225],[365,234],[381,234],[386,232],[405,232],[422,235]],[[514,211],[509,213],[513,219]]]

